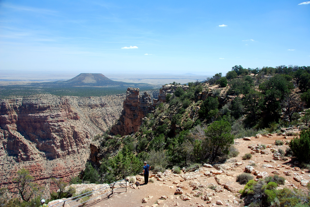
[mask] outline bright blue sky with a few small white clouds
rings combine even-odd
[[[225,74],[310,65],[310,1],[0,1],[0,70]]]

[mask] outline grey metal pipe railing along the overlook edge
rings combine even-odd
[[[125,181],[125,182],[122,183],[123,181]],[[109,190],[107,192],[108,188],[111,188],[111,190]],[[78,196],[75,196],[75,197],[72,197],[72,198],[68,198],[65,201],[61,201],[59,203],[55,203],[55,204],[51,205],[50,207],[52,207],[52,206],[53,207],[83,206],[83,205],[86,205],[86,202],[94,200],[96,198],[99,198],[100,196],[106,195],[106,194],[111,192],[111,194],[109,194],[107,196],[107,197],[109,197],[110,195],[112,195],[114,193],[115,190],[121,189],[121,188],[126,188],[125,192],[127,192],[127,182],[126,182],[126,179],[116,181],[116,182],[111,183],[109,185],[106,185],[106,186],[103,186],[101,188],[92,190],[90,192],[83,193],[81,195],[78,195]],[[95,201],[100,201],[100,200],[103,200],[103,198],[97,199]]]

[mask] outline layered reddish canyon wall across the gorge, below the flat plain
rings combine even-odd
[[[49,178],[69,180],[85,168],[89,144],[113,125],[125,95],[32,95],[0,100],[0,185],[25,167],[45,189]],[[53,189],[53,186],[51,186]]]

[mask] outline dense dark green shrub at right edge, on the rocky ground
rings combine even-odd
[[[294,137],[290,141],[290,148],[300,161],[308,162],[310,160],[310,130],[301,131],[299,137]]]

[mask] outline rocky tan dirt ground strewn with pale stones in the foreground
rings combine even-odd
[[[290,131],[299,133],[298,129],[283,129],[283,131],[283,135]],[[254,179],[276,174],[285,177],[285,184],[279,188],[305,189],[303,186],[309,182],[310,172],[301,169],[294,159],[277,154],[278,149],[285,151],[288,147],[286,141],[293,138],[283,135],[269,134],[258,135],[258,138],[249,137],[250,140],[236,139],[234,146],[240,154],[228,159],[226,163],[204,164],[196,171],[181,174],[174,174],[171,170],[150,174],[150,179],[154,182],[149,182],[147,185],[143,184],[142,175],[128,177],[132,183],[127,183],[127,192],[115,193],[110,198],[97,201],[90,206],[243,206],[238,191],[245,185],[237,183],[236,176],[246,171],[251,173]],[[276,140],[282,140],[284,145],[276,146]],[[265,145],[266,149],[260,149],[261,145]],[[242,156],[246,153],[251,153],[252,158],[242,160]],[[135,181],[141,185],[135,185]]]

